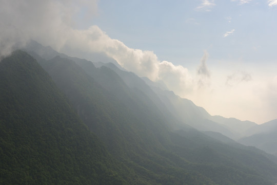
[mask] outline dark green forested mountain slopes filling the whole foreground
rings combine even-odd
[[[173,132],[180,120],[133,73],[32,54],[67,98],[26,53],[2,61],[1,180],[17,174],[26,184],[41,176],[65,184],[274,184],[277,165],[263,152],[184,124]]]

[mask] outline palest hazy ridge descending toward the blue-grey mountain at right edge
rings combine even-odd
[[[231,139],[237,140],[245,135],[249,128],[257,125],[250,121],[241,121],[235,118],[211,116],[203,107],[196,106],[192,101],[176,96],[172,91],[162,90],[152,86],[152,89],[168,106],[181,122],[193,126],[200,131],[221,133]]]

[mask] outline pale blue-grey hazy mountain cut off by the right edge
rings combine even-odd
[[[254,133],[238,140],[240,143],[255,146],[269,154],[277,156],[277,119],[256,125],[248,131]]]

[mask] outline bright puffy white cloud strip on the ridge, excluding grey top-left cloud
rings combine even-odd
[[[73,31],[66,44],[71,49],[104,52],[125,69],[153,81],[162,80],[176,93],[185,95],[192,89],[193,80],[187,68],[168,61],[161,62],[152,51],[129,48],[121,41],[111,39],[97,26]]]

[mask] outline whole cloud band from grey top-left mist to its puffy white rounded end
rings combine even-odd
[[[177,92],[189,91],[192,78],[186,68],[159,61],[153,51],[129,48],[123,42],[111,39],[96,25],[74,29],[74,15],[88,5],[96,11],[96,2],[0,0],[1,5],[5,5],[0,7],[0,54],[9,54],[14,46],[22,46],[29,39],[69,55],[73,50],[75,53],[104,52],[138,76],[163,80]]]

